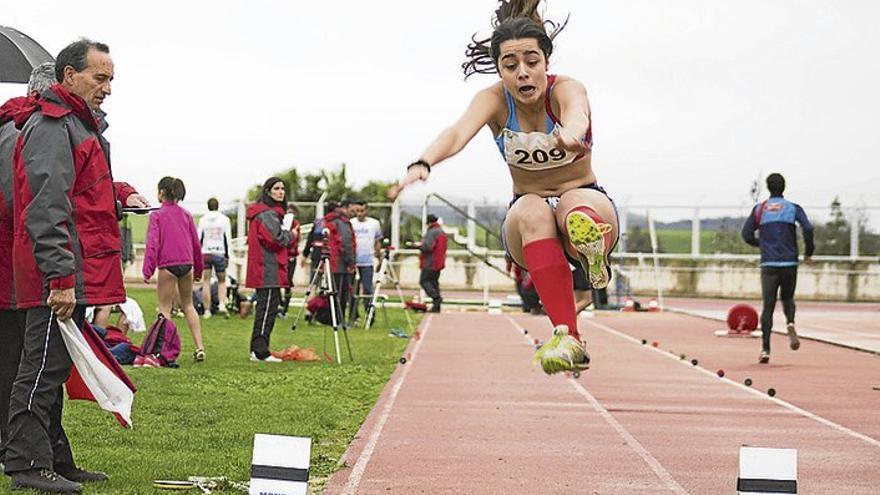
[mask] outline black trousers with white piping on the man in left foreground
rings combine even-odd
[[[84,320],[85,307],[77,306],[73,321],[82,326]],[[48,307],[28,309],[21,362],[9,399],[7,473],[73,469],[73,453],[61,425],[62,385],[70,376],[71,365],[52,311]]]

